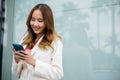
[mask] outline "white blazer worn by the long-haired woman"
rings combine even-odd
[[[12,72],[19,80],[60,80],[63,76],[62,67],[62,48],[61,40],[53,41],[52,49],[41,50],[38,47],[39,42],[43,36],[38,40],[36,45],[31,50],[31,55],[36,59],[35,67],[27,64],[24,61],[16,63],[13,58]],[[24,45],[24,48],[26,46]]]

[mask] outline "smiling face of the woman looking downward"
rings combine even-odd
[[[42,35],[44,33],[45,23],[40,10],[35,10],[33,12],[30,25],[36,35]]]

